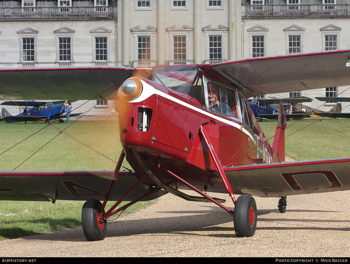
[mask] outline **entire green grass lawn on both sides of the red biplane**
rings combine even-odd
[[[350,119],[328,119],[326,122],[348,134],[315,119],[303,119],[297,123],[287,121],[286,155],[299,160],[350,157]],[[269,142],[272,144],[277,122],[263,121],[259,124],[266,137],[271,138]],[[306,126],[308,127],[302,129]],[[77,121],[67,127],[68,124],[57,122],[50,126],[30,122],[6,125],[1,122],[0,169],[89,171],[115,168],[115,161],[121,152],[117,121]],[[64,133],[59,133],[58,128],[67,129]],[[40,129],[42,130],[29,137]],[[302,130],[294,133],[300,129]],[[15,145],[23,139],[26,140]],[[123,165],[130,168],[126,161]],[[83,203],[61,200],[57,200],[55,204],[1,201],[0,239],[42,234],[81,225]],[[148,203],[138,203],[137,206]],[[128,209],[137,210],[137,207]]]

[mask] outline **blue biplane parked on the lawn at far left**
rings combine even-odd
[[[22,121],[47,121],[53,119],[66,118],[65,104],[68,100],[61,100],[55,102],[34,102],[34,101],[7,101],[1,103],[1,105],[13,105],[20,106],[21,113],[12,116],[5,108],[1,110],[0,121],[4,121],[7,124],[22,122]],[[75,102],[75,100],[70,101]],[[69,103],[69,102],[68,102]],[[30,109],[27,109],[31,107]],[[73,113],[70,116],[79,116],[82,113]]]

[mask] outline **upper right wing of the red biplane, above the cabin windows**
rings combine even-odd
[[[350,85],[350,68],[346,66],[349,52],[331,50],[248,58],[213,64],[212,68],[236,82],[251,97]]]

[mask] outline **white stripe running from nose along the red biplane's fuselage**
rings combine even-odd
[[[165,92],[162,92],[162,91],[159,91],[159,90],[155,89],[153,86],[145,83],[142,80],[140,80],[140,81],[142,82],[142,86],[144,88],[147,87],[147,89],[142,89],[141,95],[139,97],[131,100],[130,103],[140,103],[140,102],[146,100],[147,98],[151,97],[152,95],[159,95],[159,96],[165,97],[165,98],[167,98],[169,100],[172,100],[174,103],[180,104],[182,106],[186,106],[186,107],[188,107],[188,108],[190,108],[190,109],[192,109],[192,110],[194,110],[194,111],[196,111],[198,113],[204,114],[204,115],[206,115],[208,117],[211,117],[211,118],[215,118],[215,119],[217,119],[217,120],[219,120],[219,121],[221,121],[221,122],[223,122],[225,124],[228,124],[230,126],[236,127],[237,129],[239,129],[239,130],[243,131],[245,134],[247,134],[247,136],[250,137],[253,140],[255,145],[258,144],[256,139],[252,136],[252,134],[249,131],[247,131],[246,129],[244,129],[243,126],[241,126],[241,125],[239,125],[239,124],[237,124],[237,123],[235,123],[233,121],[227,120],[225,118],[215,116],[214,114],[211,114],[210,112],[207,112],[207,111],[205,111],[202,108],[199,108],[199,107],[196,107],[194,105],[188,104],[188,103],[186,103],[186,102],[184,102],[184,101],[182,101],[180,99],[177,99],[177,98],[175,98],[175,97],[173,97],[171,95],[168,95]],[[239,121],[239,120],[237,119],[237,121]]]

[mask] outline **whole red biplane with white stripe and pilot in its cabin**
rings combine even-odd
[[[88,200],[83,231],[98,241],[107,218],[172,193],[217,204],[233,216],[238,237],[253,236],[253,196],[280,197],[284,213],[288,195],[349,190],[350,158],[284,162],[284,112],[270,146],[246,98],[349,85],[349,57],[350,50],[332,50],[147,69],[1,69],[0,99],[115,99],[118,93],[123,151],[114,172],[1,171],[0,199]],[[55,89],[48,88],[52,83]],[[124,158],[133,171],[120,171]],[[227,193],[234,211],[206,192]],[[123,200],[131,202],[117,208]],[[107,201],[117,202],[108,209]]]

